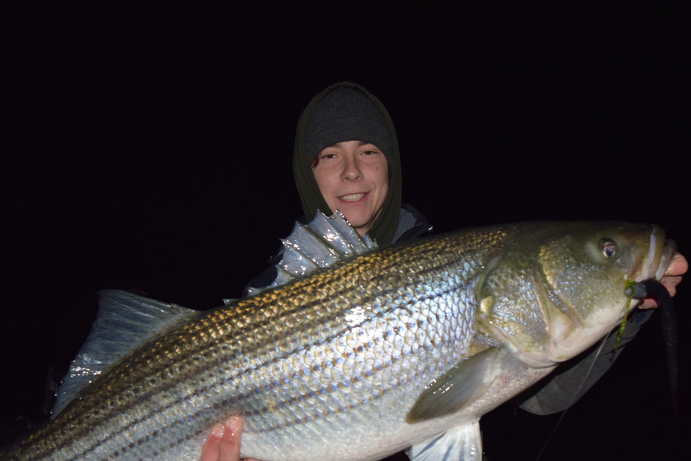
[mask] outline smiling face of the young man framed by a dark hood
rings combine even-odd
[[[332,211],[343,213],[361,236],[375,223],[388,194],[388,162],[375,144],[345,141],[317,156],[312,172]]]

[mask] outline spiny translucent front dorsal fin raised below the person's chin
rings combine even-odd
[[[247,292],[252,296],[374,248],[377,242],[367,234],[359,236],[341,211],[328,217],[317,210],[309,224],[296,222],[290,235],[283,239],[283,258],[276,263],[276,280],[267,287],[248,288]]]

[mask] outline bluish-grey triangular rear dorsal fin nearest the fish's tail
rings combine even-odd
[[[96,320],[62,379],[50,419],[55,418],[93,377],[192,312],[196,311],[122,290],[99,292]]]

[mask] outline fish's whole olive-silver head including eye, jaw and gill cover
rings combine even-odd
[[[621,322],[627,281],[660,278],[676,246],[656,225],[546,223],[491,263],[481,328],[529,366],[575,357]]]

